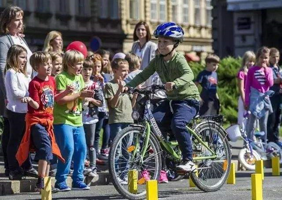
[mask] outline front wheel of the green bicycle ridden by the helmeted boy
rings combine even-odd
[[[127,199],[146,198],[145,180],[158,179],[161,170],[159,143],[154,135],[150,134],[146,145],[144,129],[140,126],[130,126],[121,130],[114,138],[109,153],[109,174],[112,183]],[[135,178],[130,175],[132,172]],[[134,189],[130,184],[133,179],[135,179]]]

